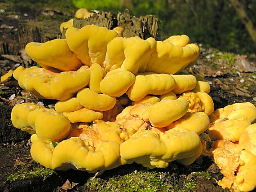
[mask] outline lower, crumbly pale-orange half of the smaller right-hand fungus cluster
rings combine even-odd
[[[218,184],[232,191],[252,191],[256,187],[256,156],[247,150],[239,150],[238,144],[219,143],[213,157],[225,177]]]

